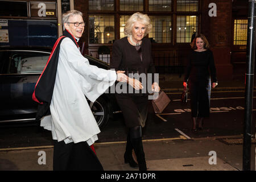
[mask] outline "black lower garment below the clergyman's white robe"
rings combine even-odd
[[[87,142],[68,143],[53,140],[53,171],[103,171]]]

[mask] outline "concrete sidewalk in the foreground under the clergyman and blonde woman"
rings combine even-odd
[[[106,171],[138,171],[124,163],[125,146],[125,142],[94,144]],[[143,146],[148,171],[242,170],[242,144],[227,145],[220,138],[186,139],[180,136],[176,139],[143,140]],[[255,144],[251,148],[255,150]],[[45,164],[42,151],[46,154]],[[51,171],[52,156],[53,146],[0,151],[0,170]]]

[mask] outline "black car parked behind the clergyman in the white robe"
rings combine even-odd
[[[32,100],[36,81],[42,73],[50,47],[1,47],[0,49],[0,123],[35,121],[38,104]],[[91,65],[109,69],[109,64],[85,55]],[[113,94],[102,94],[88,104],[101,129],[118,107]]]

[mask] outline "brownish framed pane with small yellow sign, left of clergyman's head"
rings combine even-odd
[[[55,17],[56,3],[49,2],[30,2],[31,17]]]

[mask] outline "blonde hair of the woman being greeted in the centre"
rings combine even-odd
[[[140,21],[142,24],[146,26],[146,31],[144,36],[146,36],[151,31],[152,24],[150,23],[150,18],[148,17],[148,15],[137,12],[131,15],[130,18],[127,20],[125,25],[125,30],[124,30],[125,35],[131,34],[133,30],[133,25],[137,21]]]

